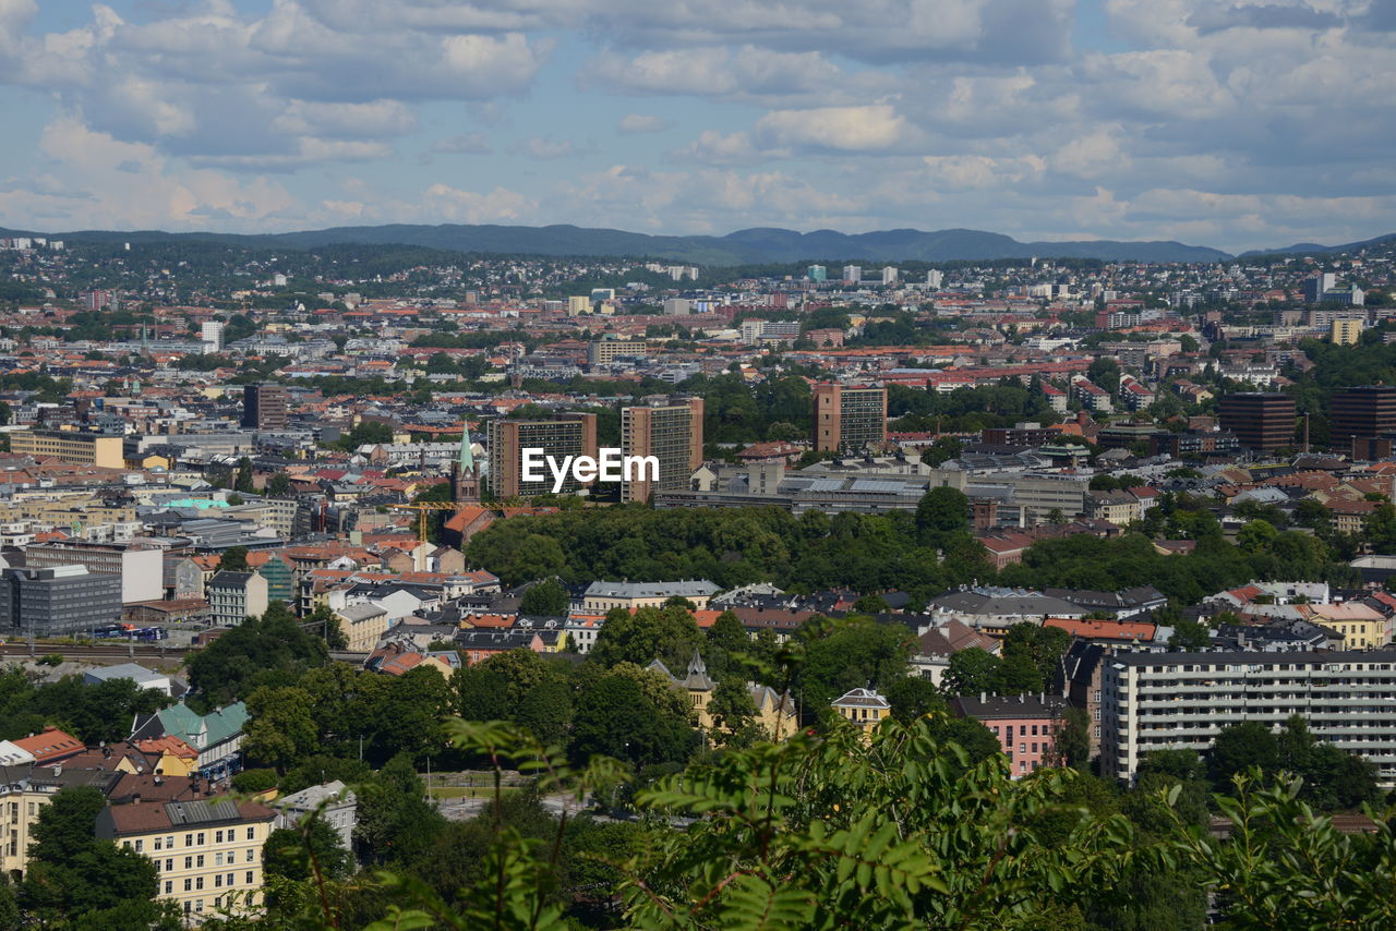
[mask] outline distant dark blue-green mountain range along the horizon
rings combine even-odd
[[[1046,241],[1020,243],[1002,233],[973,229],[891,229],[874,233],[839,233],[822,229],[797,233],[789,229],[743,229],[726,236],[649,236],[618,229],[582,226],[466,226],[444,223],[336,226],[297,233],[242,236],[233,233],[166,233],[161,230],[110,232],[78,230],[71,233],[25,233],[0,229],[0,236],[49,236],[66,241],[216,241],[250,248],[317,248],[331,244],[423,246],[465,253],[528,255],[596,255],[663,258],[698,265],[755,265],[817,260],[853,260],[871,262],[898,261],[977,261],[994,258],[1100,258],[1136,262],[1217,262],[1233,258],[1228,253],[1206,246],[1174,241]],[[1277,250],[1245,253],[1329,253],[1356,246],[1396,240],[1396,233],[1367,243],[1316,246],[1309,243]]]

